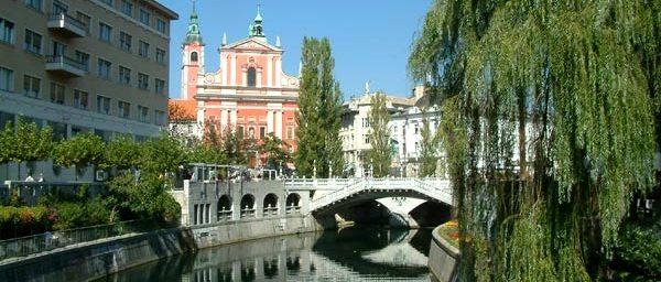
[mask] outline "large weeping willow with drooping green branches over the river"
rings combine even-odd
[[[409,58],[442,105],[464,280],[603,274],[652,184],[661,1],[449,1]],[[430,79],[431,78],[431,79]]]

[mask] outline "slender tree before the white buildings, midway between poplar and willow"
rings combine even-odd
[[[371,149],[367,156],[371,162],[375,177],[388,175],[392,155],[390,154],[390,112],[388,112],[388,100],[386,95],[378,93],[371,97],[371,109],[368,112],[369,120],[369,144]]]

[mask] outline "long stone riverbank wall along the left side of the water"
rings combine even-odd
[[[0,261],[0,281],[88,281],[197,249],[322,229],[295,215],[127,235]]]

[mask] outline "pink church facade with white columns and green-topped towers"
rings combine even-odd
[[[205,44],[194,11],[182,45],[182,97],[171,105],[194,111],[191,116],[203,124],[198,138],[209,126],[257,140],[273,133],[295,151],[299,78],[282,70],[280,37],[274,45],[268,42],[259,9],[249,30],[248,37],[230,44],[223,35],[218,68],[205,72]]]

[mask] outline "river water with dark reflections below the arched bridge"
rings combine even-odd
[[[348,228],[172,257],[99,281],[429,281],[431,230]]]

